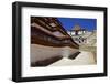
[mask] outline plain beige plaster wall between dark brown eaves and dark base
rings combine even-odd
[[[54,48],[31,44],[31,62],[42,61],[58,55],[68,57],[70,54],[74,54],[77,51],[77,49],[72,49],[69,46]]]

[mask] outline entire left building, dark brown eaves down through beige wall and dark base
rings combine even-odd
[[[50,65],[78,49],[57,18],[31,17],[31,66]]]

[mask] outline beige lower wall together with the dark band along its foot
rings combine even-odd
[[[53,48],[31,44],[31,66],[47,66],[63,57],[69,57],[70,54],[73,54],[70,59],[75,59],[78,55],[76,52],[78,52],[77,49],[68,46]]]

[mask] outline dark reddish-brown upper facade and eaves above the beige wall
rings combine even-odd
[[[74,42],[56,18],[32,18],[31,43],[78,49],[78,44]]]

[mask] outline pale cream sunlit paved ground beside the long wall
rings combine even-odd
[[[91,52],[81,51],[81,53],[75,60],[64,57],[61,61],[51,64],[50,66],[91,65],[91,64],[96,64],[95,55]]]

